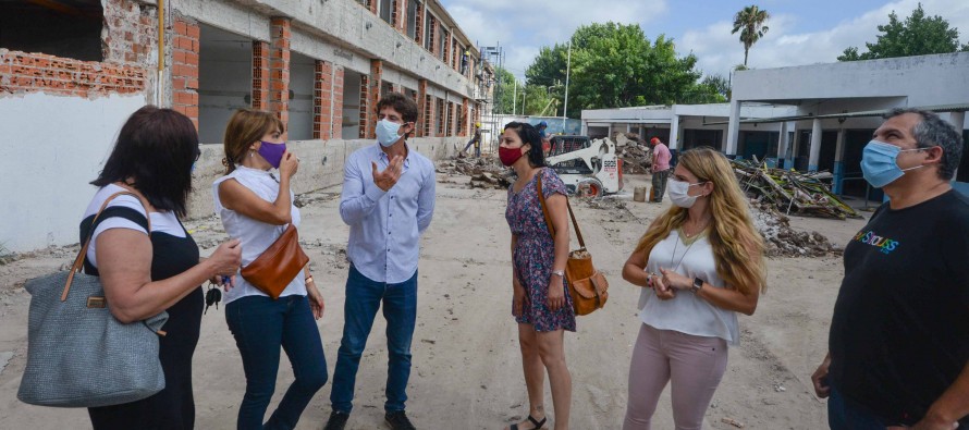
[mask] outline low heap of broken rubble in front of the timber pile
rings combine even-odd
[[[768,257],[822,257],[842,250],[821,233],[795,231],[790,228],[790,219],[770,204],[751,199],[750,216],[753,226],[763,236]]]

